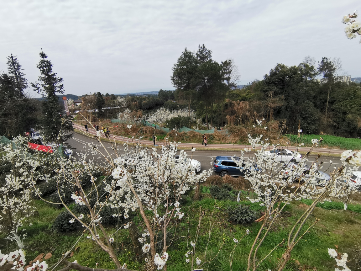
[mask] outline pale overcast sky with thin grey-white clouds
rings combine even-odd
[[[12,52],[34,82],[43,48],[65,94],[169,90],[184,48],[204,43],[214,60],[234,59],[241,85],[306,55],[340,57],[361,77],[360,36],[341,23],[355,9],[360,0],[2,1],[0,71]]]

